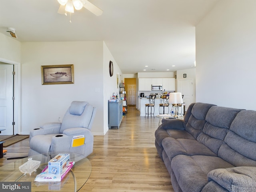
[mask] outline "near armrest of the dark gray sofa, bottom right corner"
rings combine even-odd
[[[213,180],[230,192],[255,192],[256,167],[215,169],[208,173],[208,180]]]

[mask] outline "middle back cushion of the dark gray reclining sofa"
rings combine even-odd
[[[241,109],[212,106],[206,115],[206,123],[196,140],[210,148],[216,155],[226,134]]]

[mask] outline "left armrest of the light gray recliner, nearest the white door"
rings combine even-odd
[[[36,128],[30,131],[30,138],[35,135],[56,134],[60,132],[61,122],[50,122],[43,124],[40,128]]]

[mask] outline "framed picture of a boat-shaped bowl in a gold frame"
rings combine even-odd
[[[74,65],[41,66],[42,85],[74,84]]]

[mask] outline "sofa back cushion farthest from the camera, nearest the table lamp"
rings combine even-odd
[[[194,138],[197,138],[198,134],[204,128],[206,114],[212,106],[215,105],[199,102],[195,103],[193,104],[189,118],[185,116],[185,122],[188,118],[185,130],[189,132]]]

